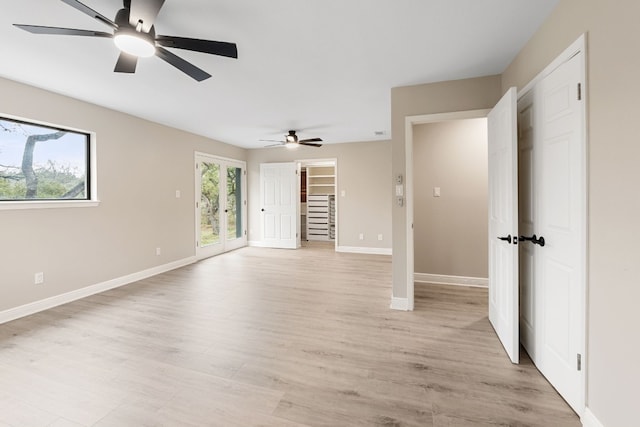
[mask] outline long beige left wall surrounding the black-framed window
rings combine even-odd
[[[245,160],[244,149],[12,81],[0,93],[0,113],[97,133],[101,201],[0,211],[0,311],[193,256],[194,151]]]

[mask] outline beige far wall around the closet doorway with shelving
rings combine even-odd
[[[249,150],[249,240],[260,241],[260,163],[337,159],[338,245],[391,248],[391,143],[389,141],[325,144]],[[345,191],[345,197],[341,197]],[[364,234],[364,240],[358,235]],[[382,240],[378,240],[382,234]]]

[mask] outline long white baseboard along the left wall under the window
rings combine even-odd
[[[120,286],[128,285],[129,283],[146,279],[148,277],[165,273],[167,271],[175,270],[176,268],[193,264],[196,261],[197,261],[196,257],[184,258],[178,261],[170,262],[168,264],[163,264],[157,267],[149,268],[147,270],[139,271],[137,273],[132,273],[126,276],[118,277],[116,279],[107,280],[106,282],[97,283],[95,285],[90,285],[84,288],[76,289],[75,291],[56,295],[40,301],[35,301],[29,304],[21,305],[19,307],[10,308],[8,310],[0,312],[0,324],[5,322],[10,322],[11,320],[19,319],[21,317],[29,316],[31,314],[38,313],[40,311],[48,310],[50,308],[57,307],[62,304],[66,304],[68,302],[79,300],[81,298],[86,298],[91,295],[99,294],[100,292],[108,291],[109,289],[114,289]]]

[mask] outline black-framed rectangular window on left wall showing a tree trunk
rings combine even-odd
[[[88,132],[0,117],[0,203],[92,200]]]

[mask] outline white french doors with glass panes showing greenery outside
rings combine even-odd
[[[246,165],[196,153],[196,257],[247,244]]]

